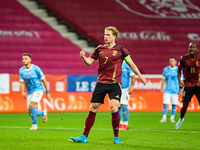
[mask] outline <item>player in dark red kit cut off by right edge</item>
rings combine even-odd
[[[180,88],[183,88],[183,106],[180,112],[180,119],[175,125],[179,129],[184,121],[184,116],[193,95],[200,101],[200,55],[197,54],[196,43],[189,44],[189,54],[181,56],[178,66],[178,80]],[[183,71],[184,83],[181,82],[181,70]]]

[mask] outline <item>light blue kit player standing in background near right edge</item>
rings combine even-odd
[[[161,92],[163,95],[163,117],[160,122],[167,122],[167,105],[172,103],[170,122],[174,123],[174,116],[176,114],[176,105],[178,104],[178,94],[182,93],[179,88],[179,82],[177,77],[178,67],[176,66],[176,58],[170,57],[170,66],[165,67],[163,70],[163,79],[161,85]],[[166,83],[166,85],[165,85]],[[165,88],[164,88],[165,87]]]

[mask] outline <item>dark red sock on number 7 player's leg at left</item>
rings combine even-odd
[[[85,135],[86,137],[88,137],[90,129],[92,128],[94,124],[95,116],[96,116],[96,113],[89,111],[89,114],[85,120],[85,128],[83,132],[83,135]]]

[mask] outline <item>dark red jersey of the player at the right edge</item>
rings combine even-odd
[[[194,87],[199,82],[200,55],[196,59],[191,59],[188,54],[181,56],[179,67],[183,69],[185,87]]]

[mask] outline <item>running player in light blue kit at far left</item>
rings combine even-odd
[[[30,130],[37,130],[37,116],[43,116],[43,122],[47,122],[47,111],[38,111],[35,109],[36,104],[41,100],[44,92],[44,88],[40,80],[42,80],[44,84],[46,97],[49,101],[51,100],[51,96],[49,94],[47,81],[43,72],[38,66],[31,64],[31,55],[24,53],[22,55],[22,62],[24,66],[19,69],[20,90],[23,98],[26,98],[27,95],[24,87],[25,82],[28,93],[27,107],[33,123]]]

